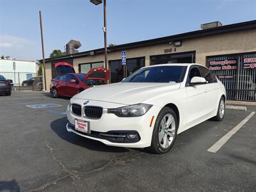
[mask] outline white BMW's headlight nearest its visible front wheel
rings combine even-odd
[[[108,113],[114,113],[116,116],[122,117],[141,116],[147,113],[151,107],[152,105],[148,104],[135,104],[122,108],[108,109]]]

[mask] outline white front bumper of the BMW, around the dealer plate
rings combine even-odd
[[[79,100],[76,100],[76,103]],[[90,100],[92,106],[101,106],[102,108],[116,108],[122,105],[113,104],[108,102],[99,102]],[[82,109],[83,109],[83,104]],[[74,132],[84,138],[101,141],[102,143],[116,147],[132,147],[132,148],[144,148],[151,145],[152,132],[154,129],[154,123],[156,117],[161,109],[157,106],[152,106],[150,110],[143,116],[138,117],[118,117],[112,113],[103,113],[101,118],[98,120],[84,118],[83,116],[76,116],[71,113],[70,109],[67,109],[67,131]],[[154,117],[153,117],[154,116]],[[153,118],[152,124],[150,122]],[[84,134],[83,132],[76,131],[74,129],[75,120],[85,120],[90,122],[91,134]],[[129,141],[124,138],[111,137],[109,135],[116,134],[119,132],[120,135],[124,135],[128,132],[138,133],[139,140]],[[103,134],[103,136],[102,136]],[[108,135],[109,134],[109,135]],[[117,139],[117,140],[116,140]]]

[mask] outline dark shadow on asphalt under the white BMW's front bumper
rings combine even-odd
[[[51,122],[51,129],[52,131],[56,132],[56,134],[61,139],[68,141],[68,143],[85,147],[85,148],[88,148],[89,150],[97,150],[102,152],[120,152],[120,153],[129,152],[127,148],[111,147],[108,145],[104,145],[100,141],[90,140],[90,139],[78,136],[72,132],[68,132],[66,129],[66,124],[67,124],[67,117],[59,118]]]

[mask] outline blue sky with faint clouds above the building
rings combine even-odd
[[[256,19],[256,0],[106,0],[108,44],[125,44],[186,33],[220,20],[233,24]],[[0,0],[0,56],[42,59],[39,10],[45,58],[64,51],[71,39],[79,51],[104,47],[103,4],[89,0]]]

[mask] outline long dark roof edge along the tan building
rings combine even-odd
[[[239,22],[236,24],[228,24],[224,26],[219,26],[216,28],[209,28],[209,29],[200,29],[197,31],[191,31],[187,33],[180,33],[177,35],[170,35],[170,36],[164,36],[161,38],[153,38],[150,40],[143,40],[139,42],[132,42],[128,44],[121,44],[121,45],[115,45],[114,47],[108,47],[109,51],[120,51],[124,49],[132,49],[132,48],[138,48],[138,47],[145,47],[149,45],[156,45],[156,44],[164,44],[168,42],[173,41],[179,41],[179,40],[187,40],[191,38],[198,38],[202,36],[209,36],[209,35],[218,35],[222,33],[230,33],[234,31],[243,31],[248,29],[256,29],[256,20],[250,20],[246,22]],[[77,52],[75,54],[70,54],[67,56],[61,56],[57,58],[47,58],[45,61],[54,61],[54,60],[63,60],[66,58],[79,58],[82,56],[90,56],[93,52],[93,55],[95,54],[101,54],[104,53],[104,48],[100,49],[93,49],[90,51],[83,51],[83,52]],[[42,61],[42,60],[40,60]]]

